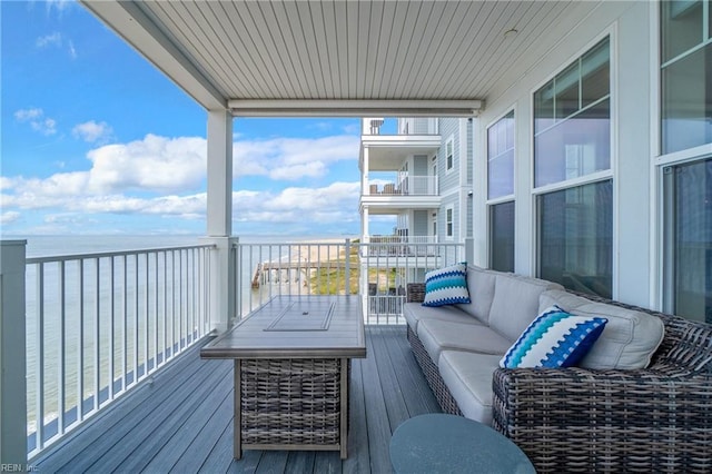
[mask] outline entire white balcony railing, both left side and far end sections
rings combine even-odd
[[[229,254],[234,319],[276,295],[359,294],[367,324],[404,324],[407,284],[462,260],[464,246],[427,243],[431,250],[404,256],[403,244],[238,240]],[[212,330],[212,251],[197,245],[24,260],[29,460]]]

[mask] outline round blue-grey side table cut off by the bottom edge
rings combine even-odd
[[[432,413],[398,426],[390,438],[396,473],[536,473],[507,437],[462,416]]]

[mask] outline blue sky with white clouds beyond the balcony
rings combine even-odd
[[[80,4],[0,16],[1,233],[204,234],[205,110]],[[358,234],[358,134],[236,119],[234,234]]]

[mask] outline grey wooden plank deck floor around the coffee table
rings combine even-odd
[[[405,326],[367,326],[354,359],[348,458],[337,452],[245,451],[233,458],[233,362],[198,348],[147,381],[32,463],[42,473],[389,473],[388,444],[405,419],[439,407]]]

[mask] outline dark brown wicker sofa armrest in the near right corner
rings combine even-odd
[[[712,468],[712,376],[642,371],[496,369],[493,425],[538,472]]]

